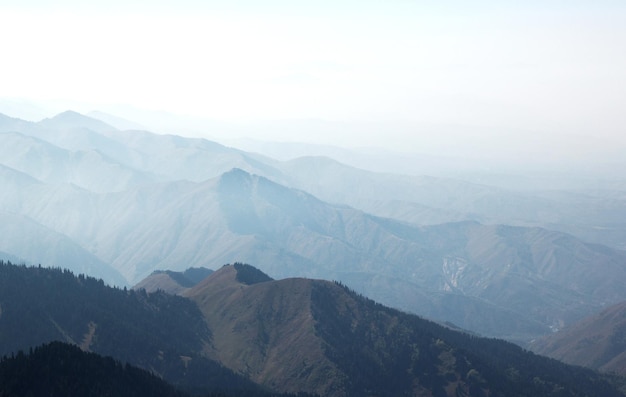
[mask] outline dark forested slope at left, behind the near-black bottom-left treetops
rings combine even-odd
[[[188,299],[0,261],[0,355],[63,341],[150,369],[188,390],[258,389],[201,355],[210,340]]]

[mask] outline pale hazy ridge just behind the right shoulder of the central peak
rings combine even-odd
[[[507,223],[530,223],[539,221],[542,215],[541,221],[545,222],[545,214],[536,213],[536,208],[557,213],[553,211],[556,203],[505,189],[451,178],[369,172],[323,157],[291,160],[282,164],[282,169],[295,187],[323,200],[346,203],[366,212],[378,209],[377,214],[385,217],[398,207],[408,210],[410,206],[417,206],[421,212],[429,208],[429,216],[434,218],[438,214],[443,218],[434,218],[433,223],[464,220],[497,223],[503,219]],[[404,220],[425,223],[416,214],[410,214],[405,213],[408,216]]]

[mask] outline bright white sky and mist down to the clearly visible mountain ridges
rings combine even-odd
[[[99,111],[226,144],[379,148],[516,173],[612,176],[626,147],[618,2],[2,11],[5,51],[20,56],[0,66],[0,111],[31,121]]]

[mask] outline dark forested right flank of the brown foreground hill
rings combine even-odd
[[[411,396],[417,384],[434,396],[623,396],[591,370],[454,331],[340,287],[317,284],[312,309],[325,354],[347,375],[350,396]]]

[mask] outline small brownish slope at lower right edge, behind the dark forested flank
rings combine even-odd
[[[573,365],[626,375],[626,302],[538,339],[530,347]]]

